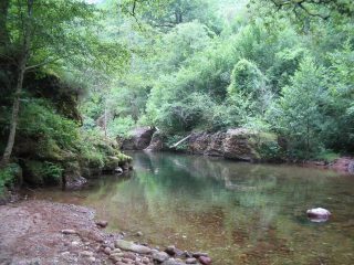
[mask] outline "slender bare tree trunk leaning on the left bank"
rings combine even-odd
[[[18,66],[18,80],[15,84],[14,98],[13,98],[13,105],[12,105],[10,132],[9,132],[8,144],[0,162],[1,167],[6,167],[10,161],[13,144],[14,144],[15,130],[17,130],[18,120],[19,120],[20,96],[22,92],[23,76],[25,72],[25,65],[29,56],[29,49],[30,49],[30,41],[31,41],[31,19],[32,19],[33,0],[28,0],[27,3],[28,3],[27,4],[28,9],[27,9],[24,21],[23,21],[23,24],[24,24],[23,43],[22,43],[22,52],[20,55],[19,66]]]

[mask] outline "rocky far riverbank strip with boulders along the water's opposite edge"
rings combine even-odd
[[[178,140],[177,140],[178,139]],[[340,173],[354,173],[354,158],[331,153],[327,158],[289,159],[287,141],[274,134],[257,134],[246,128],[233,128],[218,132],[191,132],[187,137],[170,139],[154,127],[132,130],[129,137],[117,138],[121,150],[146,152],[179,152],[251,163],[294,165],[317,169],[330,169]]]

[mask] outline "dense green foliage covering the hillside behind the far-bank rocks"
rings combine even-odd
[[[101,107],[112,136],[142,124],[170,139],[246,127],[287,139],[259,146],[269,159],[354,150],[350,1],[126,0],[121,8],[133,22],[119,22],[132,30],[119,38],[139,54]]]

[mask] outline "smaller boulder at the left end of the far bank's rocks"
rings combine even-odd
[[[118,138],[122,150],[144,150],[152,141],[156,131],[154,127],[140,127],[132,130],[128,138]]]

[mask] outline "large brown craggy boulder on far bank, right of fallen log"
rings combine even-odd
[[[186,150],[197,155],[256,161],[263,159],[262,148],[268,144],[278,145],[275,137],[235,128],[226,132],[195,132],[189,137]]]

